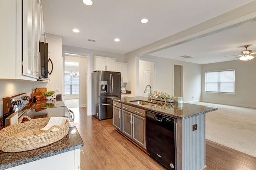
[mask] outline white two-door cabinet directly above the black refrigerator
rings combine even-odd
[[[94,56],[94,70],[115,71],[116,59]]]

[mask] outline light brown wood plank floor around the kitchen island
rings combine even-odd
[[[86,107],[71,108],[84,142],[82,170],[164,170],[145,152],[120,135],[112,119],[86,116]],[[206,140],[205,170],[256,170],[256,157]]]

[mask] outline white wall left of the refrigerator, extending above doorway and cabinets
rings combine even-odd
[[[116,58],[117,62],[124,62],[124,55],[118,53],[110,53],[106,51],[98,51],[80,47],[72,47],[68,45],[63,45],[63,52],[64,53],[71,53],[71,54],[79,54],[87,56],[87,115],[92,115],[92,77],[91,73],[94,71],[94,55],[97,56],[104,56],[104,57],[112,57]]]

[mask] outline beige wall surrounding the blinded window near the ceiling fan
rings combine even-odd
[[[205,92],[205,72],[235,69],[235,94]],[[256,94],[256,59],[251,61],[227,61],[202,65],[202,102],[252,107]]]

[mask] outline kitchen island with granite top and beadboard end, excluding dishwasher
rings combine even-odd
[[[178,104],[174,103],[165,103],[164,101],[156,101],[152,100],[151,103],[148,98],[145,97],[129,97],[129,98],[113,98],[113,116],[117,113],[117,109],[119,108],[122,114],[120,117],[120,129],[124,135],[127,135],[126,130],[126,114],[130,113],[132,115],[130,122],[133,123],[132,133],[136,135],[138,129],[138,121],[140,121],[140,128],[145,129],[143,124],[146,125],[145,114],[148,111],[152,111],[154,113],[158,113],[163,116],[176,118],[176,167],[177,170],[200,170],[206,167],[205,163],[205,113],[210,111],[217,110],[215,107],[208,106],[200,106],[195,104]],[[135,101],[135,102],[131,102]],[[137,102],[136,102],[137,101]],[[146,103],[139,102],[145,101]],[[130,108],[131,107],[131,108]],[[128,108],[128,109],[127,109]],[[134,109],[139,109],[134,112]],[[130,111],[128,111],[130,110]],[[131,111],[132,110],[132,111]],[[134,119],[138,117],[137,113],[141,113],[139,116],[140,119]],[[129,117],[129,116],[128,116]],[[115,123],[115,116],[113,117],[113,124]],[[196,125],[196,128],[195,128]],[[116,125],[114,125],[116,127]],[[137,129],[135,129],[137,128]],[[134,134],[131,135],[130,139],[136,145],[144,147],[146,146],[146,132],[145,130],[140,131],[140,134],[143,134],[143,137],[134,137]],[[137,140],[137,139],[143,139]],[[138,142],[139,141],[139,142]],[[142,145],[143,144],[143,145]],[[169,167],[170,168],[170,167]]]

